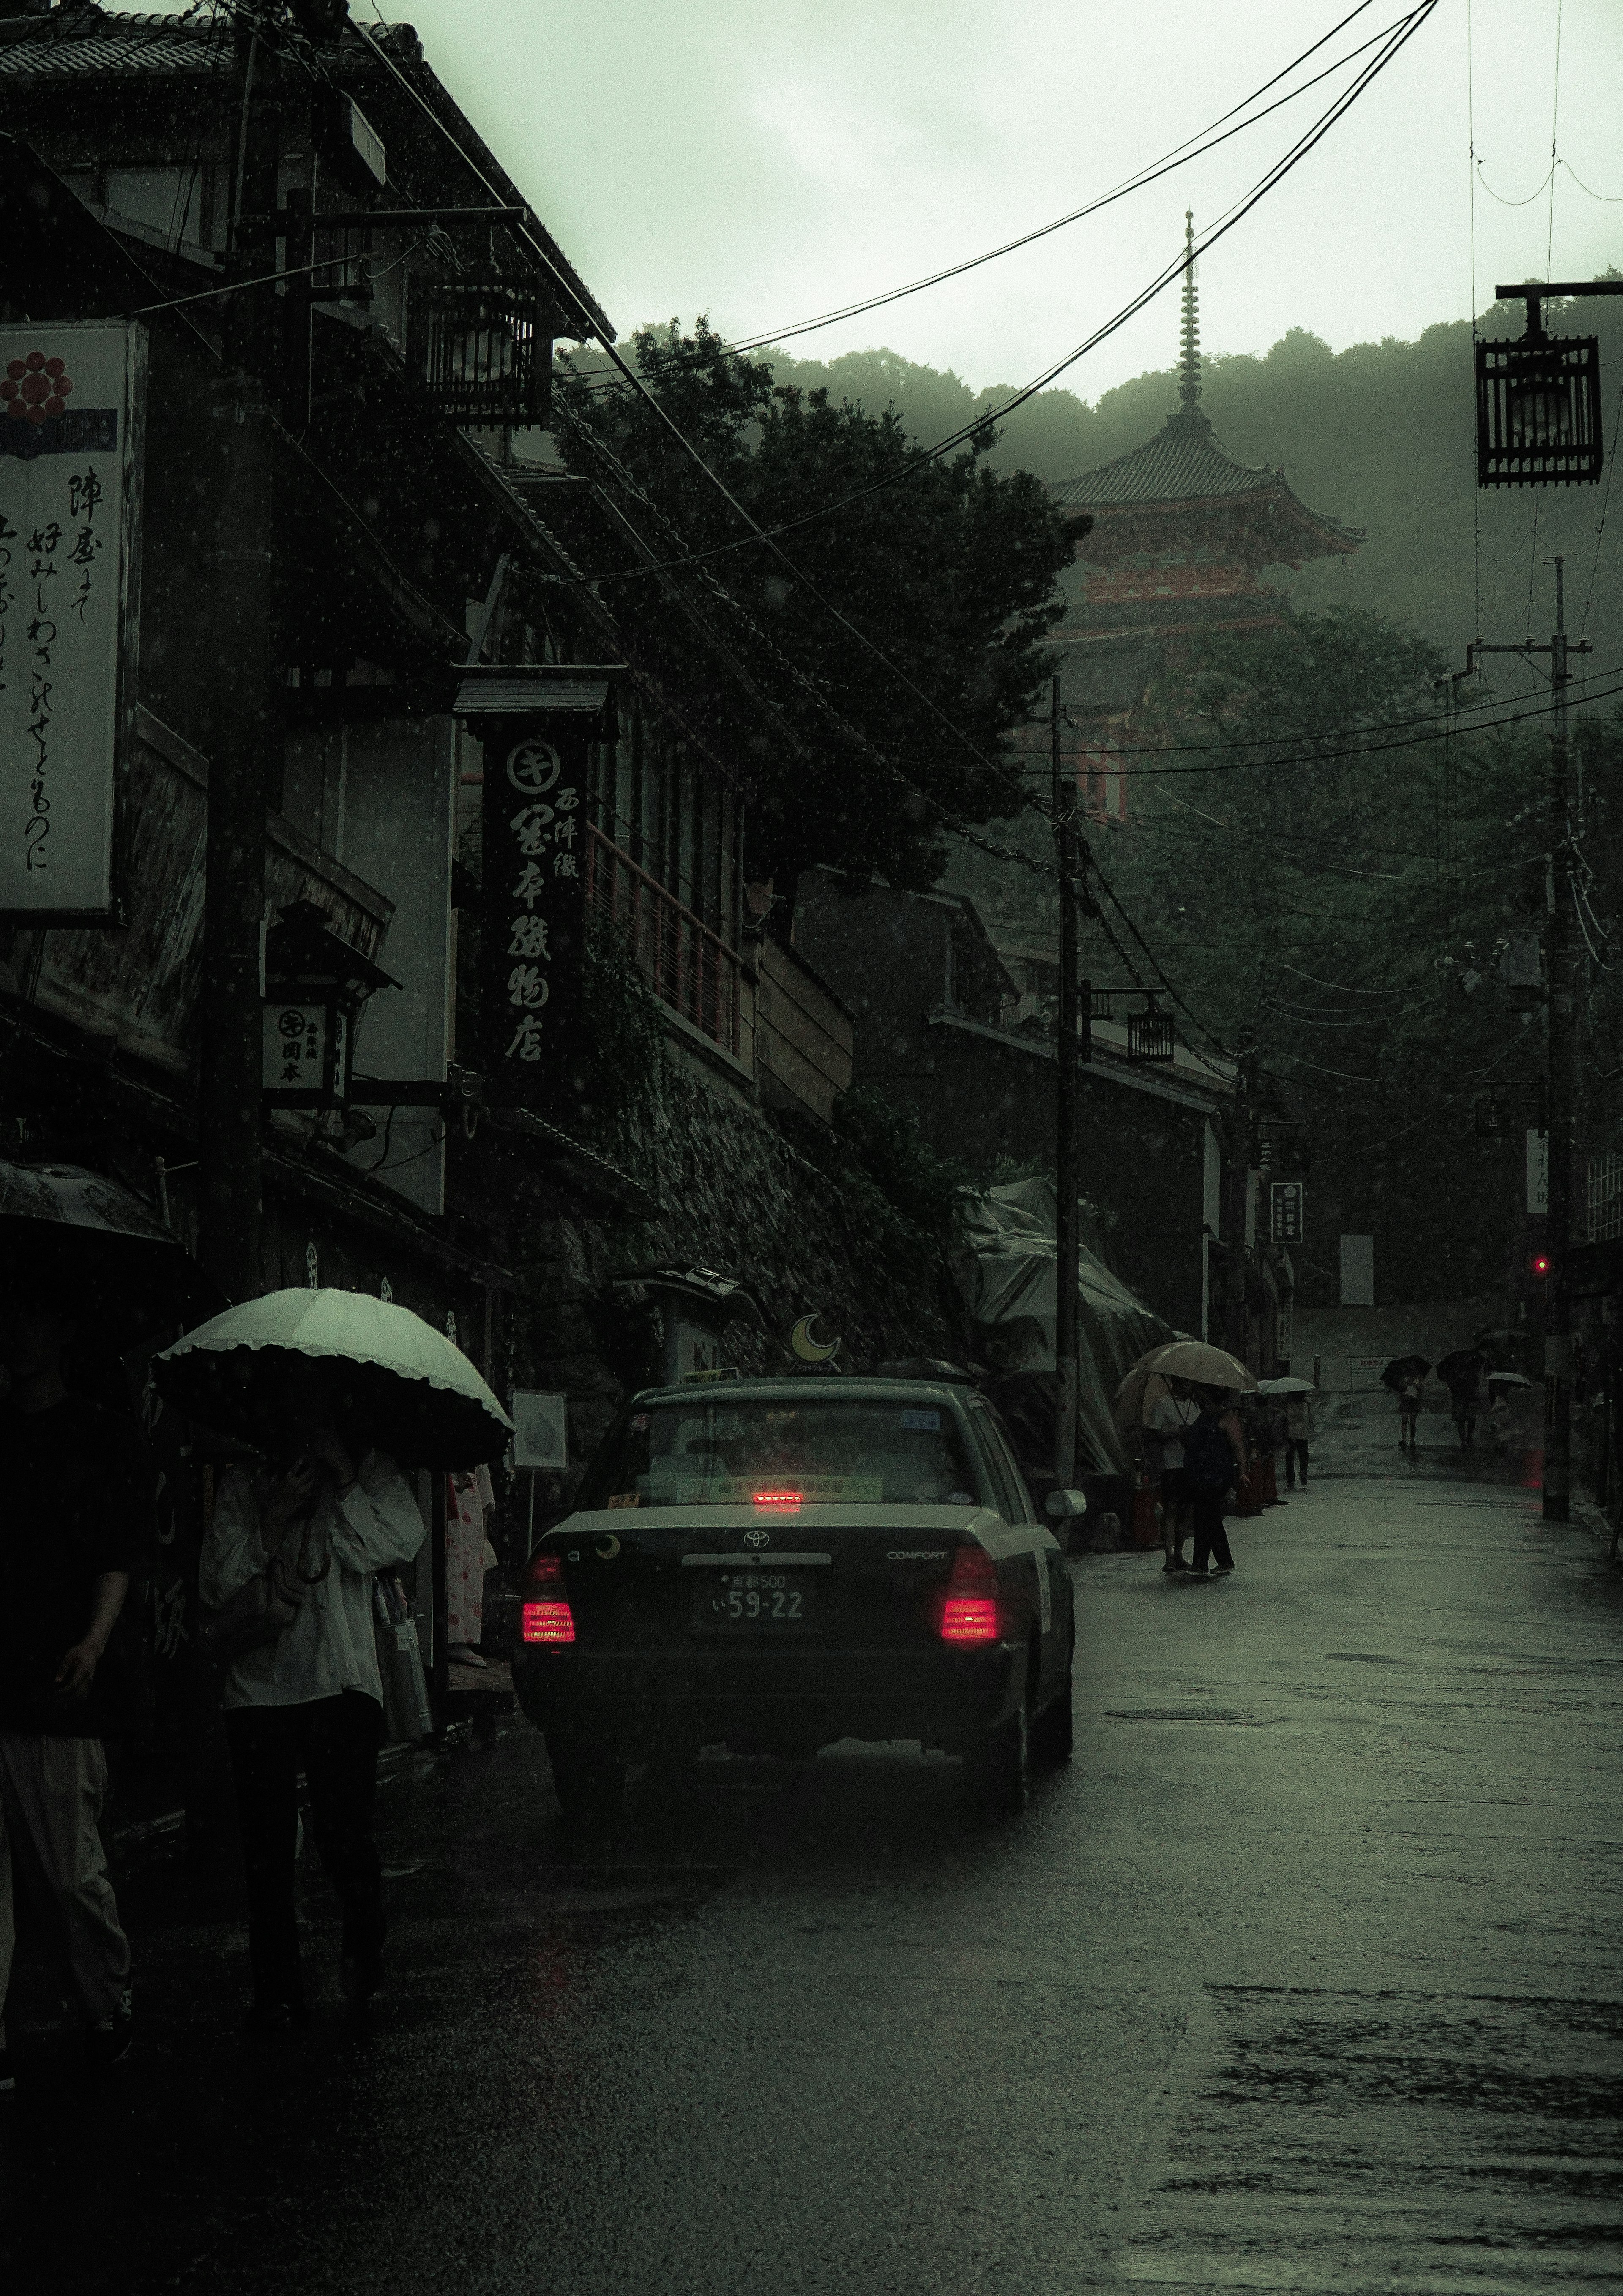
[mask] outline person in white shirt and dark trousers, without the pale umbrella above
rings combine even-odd
[[[367,2000],[383,1975],[388,1924],[372,1844],[383,1688],[372,1575],[411,1561],[422,1518],[395,1460],[351,1421],[347,1368],[287,1359],[273,1389],[271,1456],[257,1474],[225,1469],[202,1552],[213,1632],[227,1649],[236,1637],[225,1733],[248,1880],[248,2023],[257,2032],[287,2030],[308,2014],[294,1910],[301,1770],[314,1844],[344,1906],[344,1993]],[[255,1614],[264,1621],[257,1630]]]

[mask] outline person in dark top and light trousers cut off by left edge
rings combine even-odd
[[[0,1362],[0,2089],[5,1995],[25,1892],[67,1968],[92,2066],[133,2037],[131,1952],[101,1848],[103,1740],[142,1715],[140,1623],[124,1619],[152,1541],[152,1474],[133,1424],[62,1371],[62,1288],[5,1281]]]

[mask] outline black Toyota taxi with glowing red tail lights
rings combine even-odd
[[[638,1394],[530,1554],[521,1616],[512,1681],[572,1818],[613,1812],[627,1763],[721,1740],[918,1738],[994,1812],[1070,1756],[1072,1580],[962,1384]]]

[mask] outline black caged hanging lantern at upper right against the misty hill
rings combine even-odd
[[[1545,335],[1543,298],[1609,285],[1499,287],[1501,298],[1524,298],[1527,333],[1476,344],[1478,487],[1589,487],[1600,478],[1600,342]]]

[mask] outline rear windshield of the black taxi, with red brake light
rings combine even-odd
[[[976,1506],[969,1446],[941,1403],[654,1403],[631,1412],[581,1506]]]

